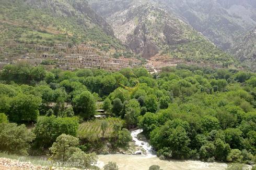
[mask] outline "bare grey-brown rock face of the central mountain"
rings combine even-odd
[[[188,35],[193,34],[188,24],[153,4],[129,4],[119,0],[108,3],[110,5],[95,2],[92,7],[107,5],[104,9],[98,9],[98,13],[105,14],[115,36],[143,58],[155,56],[168,46],[187,43]],[[115,7],[111,3],[119,5]],[[122,3],[126,4],[126,7],[121,5]]]

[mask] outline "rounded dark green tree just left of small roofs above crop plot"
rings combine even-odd
[[[89,119],[95,114],[96,103],[94,96],[89,91],[84,91],[80,95],[76,96],[72,105],[76,114],[79,114],[84,119]]]

